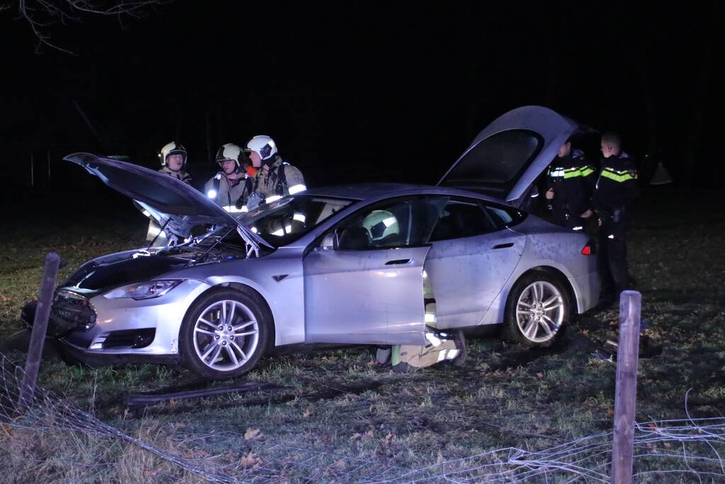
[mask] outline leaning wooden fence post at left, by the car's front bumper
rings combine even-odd
[[[60,256],[57,253],[51,252],[46,255],[41,292],[38,295],[38,307],[36,308],[35,319],[33,319],[33,329],[30,332],[28,358],[25,360],[25,374],[22,376],[20,398],[17,401],[21,411],[29,409],[33,403],[59,265]]]

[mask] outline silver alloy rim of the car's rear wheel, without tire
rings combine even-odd
[[[561,329],[564,311],[564,298],[554,284],[532,282],[516,301],[518,330],[532,343],[546,343]]]

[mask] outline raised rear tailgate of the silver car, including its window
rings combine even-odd
[[[486,126],[438,184],[521,207],[531,185],[579,129],[579,123],[547,107],[518,107]]]

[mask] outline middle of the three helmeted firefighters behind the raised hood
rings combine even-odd
[[[247,197],[252,193],[252,179],[242,169],[241,149],[233,143],[223,144],[217,152],[222,171],[207,181],[204,193],[229,213],[246,211]]]

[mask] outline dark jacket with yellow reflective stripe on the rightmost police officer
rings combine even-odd
[[[626,153],[602,158],[592,202],[600,216],[613,218],[626,214],[639,195],[637,165]]]

